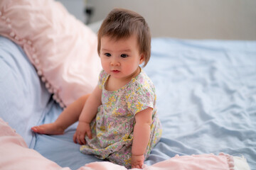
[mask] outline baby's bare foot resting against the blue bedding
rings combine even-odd
[[[31,128],[33,132],[47,134],[47,135],[62,135],[64,133],[64,129],[55,123],[48,123],[44,125],[34,126]]]

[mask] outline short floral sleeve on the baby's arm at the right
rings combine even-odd
[[[134,115],[146,108],[154,109],[155,93],[153,89],[135,83],[134,91],[128,94],[128,111]]]

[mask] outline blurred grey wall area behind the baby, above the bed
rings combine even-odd
[[[112,8],[140,13],[155,37],[256,40],[256,0],[58,0],[97,28]]]

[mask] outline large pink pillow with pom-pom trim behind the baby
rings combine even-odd
[[[21,45],[60,106],[97,85],[97,36],[59,2],[1,0],[0,35]]]

